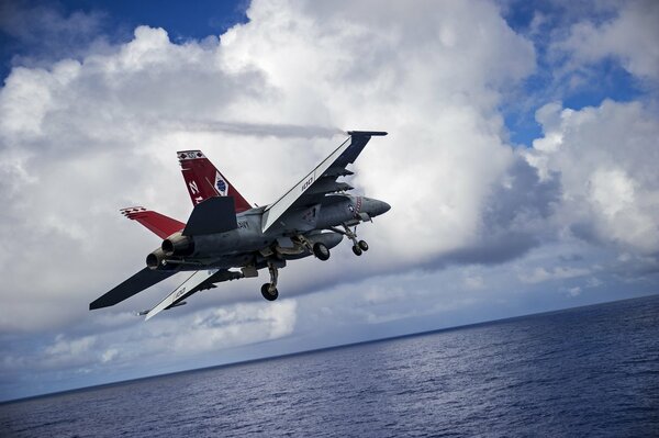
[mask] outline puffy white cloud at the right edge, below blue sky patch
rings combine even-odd
[[[540,175],[560,172],[560,226],[589,242],[659,251],[659,122],[639,102],[537,112],[544,136],[525,154]]]

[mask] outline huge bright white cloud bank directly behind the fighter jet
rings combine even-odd
[[[158,239],[115,211],[145,204],[185,220],[177,149],[203,148],[264,204],[340,141],[297,127],[391,132],[356,165],[354,183],[393,205],[364,227],[379,248],[367,269],[478,248],[491,186],[517,162],[496,105],[533,70],[533,46],[489,3],[392,8],[255,2],[252,21],[221,40],[174,44],[141,26],[112,50],[13,69],[0,92],[0,157],[11,164],[1,201],[14,220],[0,232],[13,260],[2,327],[88,317],[94,295],[143,266]],[[465,21],[478,26],[455,24]],[[304,135],[282,136],[287,126]]]

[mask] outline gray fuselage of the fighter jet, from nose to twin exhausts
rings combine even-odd
[[[343,239],[332,228],[353,226],[387,212],[386,202],[348,194],[327,195],[323,202],[292,210],[266,233],[261,232],[264,212],[256,207],[236,215],[237,228],[216,234],[169,236],[163,248],[147,257],[147,266],[158,270],[199,270],[200,268],[264,268],[269,260],[311,256],[310,246],[322,243],[333,248]],[[164,251],[167,242],[178,248]],[[181,244],[182,242],[182,244]],[[171,248],[171,246],[170,246]]]

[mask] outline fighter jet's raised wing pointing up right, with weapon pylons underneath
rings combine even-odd
[[[377,131],[350,131],[350,138],[338,146],[327,158],[309,172],[291,190],[275,203],[268,205],[264,212],[261,231],[267,232],[277,220],[290,209],[317,203],[327,193],[350,190],[353,187],[345,182],[336,182],[338,177],[353,175],[346,169],[348,164],[355,162],[371,136],[387,135]]]

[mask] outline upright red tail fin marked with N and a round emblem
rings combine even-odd
[[[236,213],[252,209],[249,202],[220,173],[201,150],[182,150],[177,154],[192,204],[197,205],[213,196],[232,196]]]

